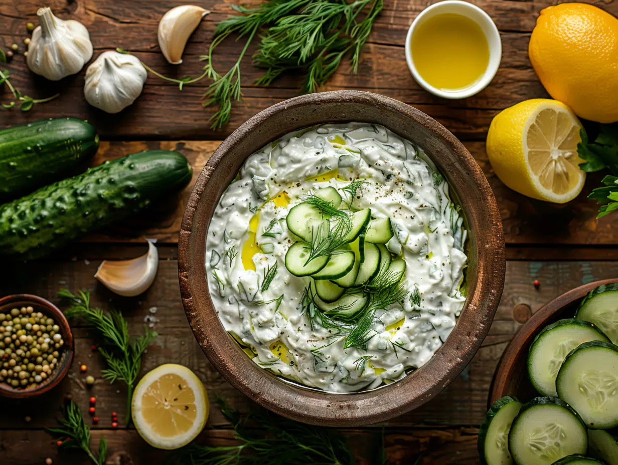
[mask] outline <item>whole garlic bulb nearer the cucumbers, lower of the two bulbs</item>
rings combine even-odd
[[[147,76],[137,57],[103,52],[86,70],[83,94],[93,107],[117,113],[140,96]]]

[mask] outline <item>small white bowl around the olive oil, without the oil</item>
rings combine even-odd
[[[445,91],[430,85],[418,73],[418,70],[414,65],[414,61],[412,60],[412,35],[416,28],[418,28],[421,23],[425,22],[425,20],[435,15],[444,13],[460,14],[472,19],[481,27],[481,30],[483,30],[489,45],[489,63],[487,65],[487,69],[485,70],[485,74],[483,74],[483,77],[481,77],[480,80],[478,80],[474,85],[460,90]],[[408,29],[408,35],[405,38],[405,61],[408,63],[408,68],[410,68],[412,76],[426,91],[437,95],[438,97],[462,99],[480,92],[496,75],[498,67],[500,66],[501,58],[502,42],[500,40],[500,33],[498,32],[496,24],[493,22],[491,17],[489,17],[489,15],[478,6],[460,0],[446,0],[426,7],[412,22],[410,29]]]

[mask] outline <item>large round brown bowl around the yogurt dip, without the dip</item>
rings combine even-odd
[[[206,282],[206,232],[214,208],[245,159],[273,140],[324,122],[371,122],[415,141],[438,165],[463,208],[470,233],[468,298],[449,338],[424,366],[376,390],[331,394],[292,385],[258,367],[223,329]],[[180,293],[193,334],[211,363],[262,406],[316,425],[385,421],[430,400],[460,374],[489,330],[504,285],[504,237],[493,192],[454,135],[428,115],[391,98],[359,91],[300,96],[262,111],[214,152],[188,199],[178,244]]]

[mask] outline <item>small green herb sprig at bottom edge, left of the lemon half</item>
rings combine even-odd
[[[99,440],[99,449],[95,453],[90,449],[90,428],[83,421],[82,412],[77,404],[70,401],[64,409],[64,418],[58,420],[61,427],[48,428],[46,431],[60,441],[59,449],[80,449],[88,454],[95,465],[105,465],[108,454],[108,442],[104,437]],[[67,439],[68,438],[68,439]]]

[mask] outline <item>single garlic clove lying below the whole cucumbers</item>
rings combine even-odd
[[[104,260],[96,270],[95,278],[112,292],[133,297],[148,289],[155,280],[159,253],[148,241],[148,252],[131,260]]]

